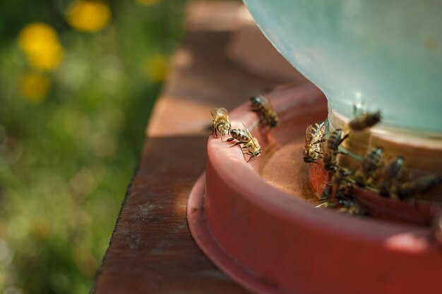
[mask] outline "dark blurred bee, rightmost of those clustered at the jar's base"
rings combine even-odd
[[[441,183],[442,178],[438,175],[421,176],[416,180],[402,183],[398,188],[398,197],[400,200],[406,200],[417,194],[429,192],[436,187],[436,185],[440,185]]]

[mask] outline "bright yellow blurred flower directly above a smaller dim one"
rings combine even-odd
[[[30,23],[18,35],[18,44],[29,63],[41,71],[53,71],[63,57],[55,30],[44,23]]]

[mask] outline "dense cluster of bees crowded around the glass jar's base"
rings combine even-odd
[[[416,199],[442,183],[438,175],[424,175],[413,178],[404,166],[400,156],[389,161],[383,160],[383,148],[374,147],[362,157],[356,171],[346,169],[338,164],[338,154],[350,156],[340,149],[340,145],[352,132],[366,130],[381,121],[381,113],[365,113],[345,125],[345,131],[338,128],[328,137],[325,134],[325,123],[309,125],[306,129],[306,145],[303,149],[304,161],[308,164],[319,164],[328,174],[328,183],[321,195],[321,207],[338,207],[350,214],[364,214],[354,196],[352,188],[357,186],[378,193],[382,197],[396,198],[406,201]],[[327,138],[326,138],[327,137]],[[353,157],[355,158],[355,157]]]

